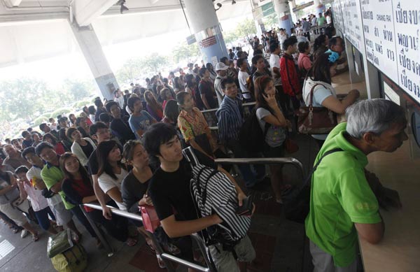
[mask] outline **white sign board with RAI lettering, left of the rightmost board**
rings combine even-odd
[[[382,73],[398,83],[395,33],[390,0],[360,0],[366,58]]]

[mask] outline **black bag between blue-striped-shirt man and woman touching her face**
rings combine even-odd
[[[251,153],[262,152],[264,149],[265,135],[270,124],[265,122],[265,129],[262,131],[258,122],[257,108],[253,108],[251,114],[246,118],[239,130],[239,144],[242,148]]]

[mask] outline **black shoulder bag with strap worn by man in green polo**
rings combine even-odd
[[[344,151],[341,148],[335,148],[324,153],[316,162],[314,168],[301,186],[293,187],[281,194],[283,200],[283,212],[287,220],[304,224],[304,220],[309,213],[311,204],[311,178],[316,168],[321,164],[322,159],[334,152]]]

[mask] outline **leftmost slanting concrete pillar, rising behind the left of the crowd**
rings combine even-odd
[[[119,88],[118,83],[106,60],[92,24],[87,27],[78,27],[77,24],[70,25],[102,96],[106,99],[113,99],[113,92]]]

